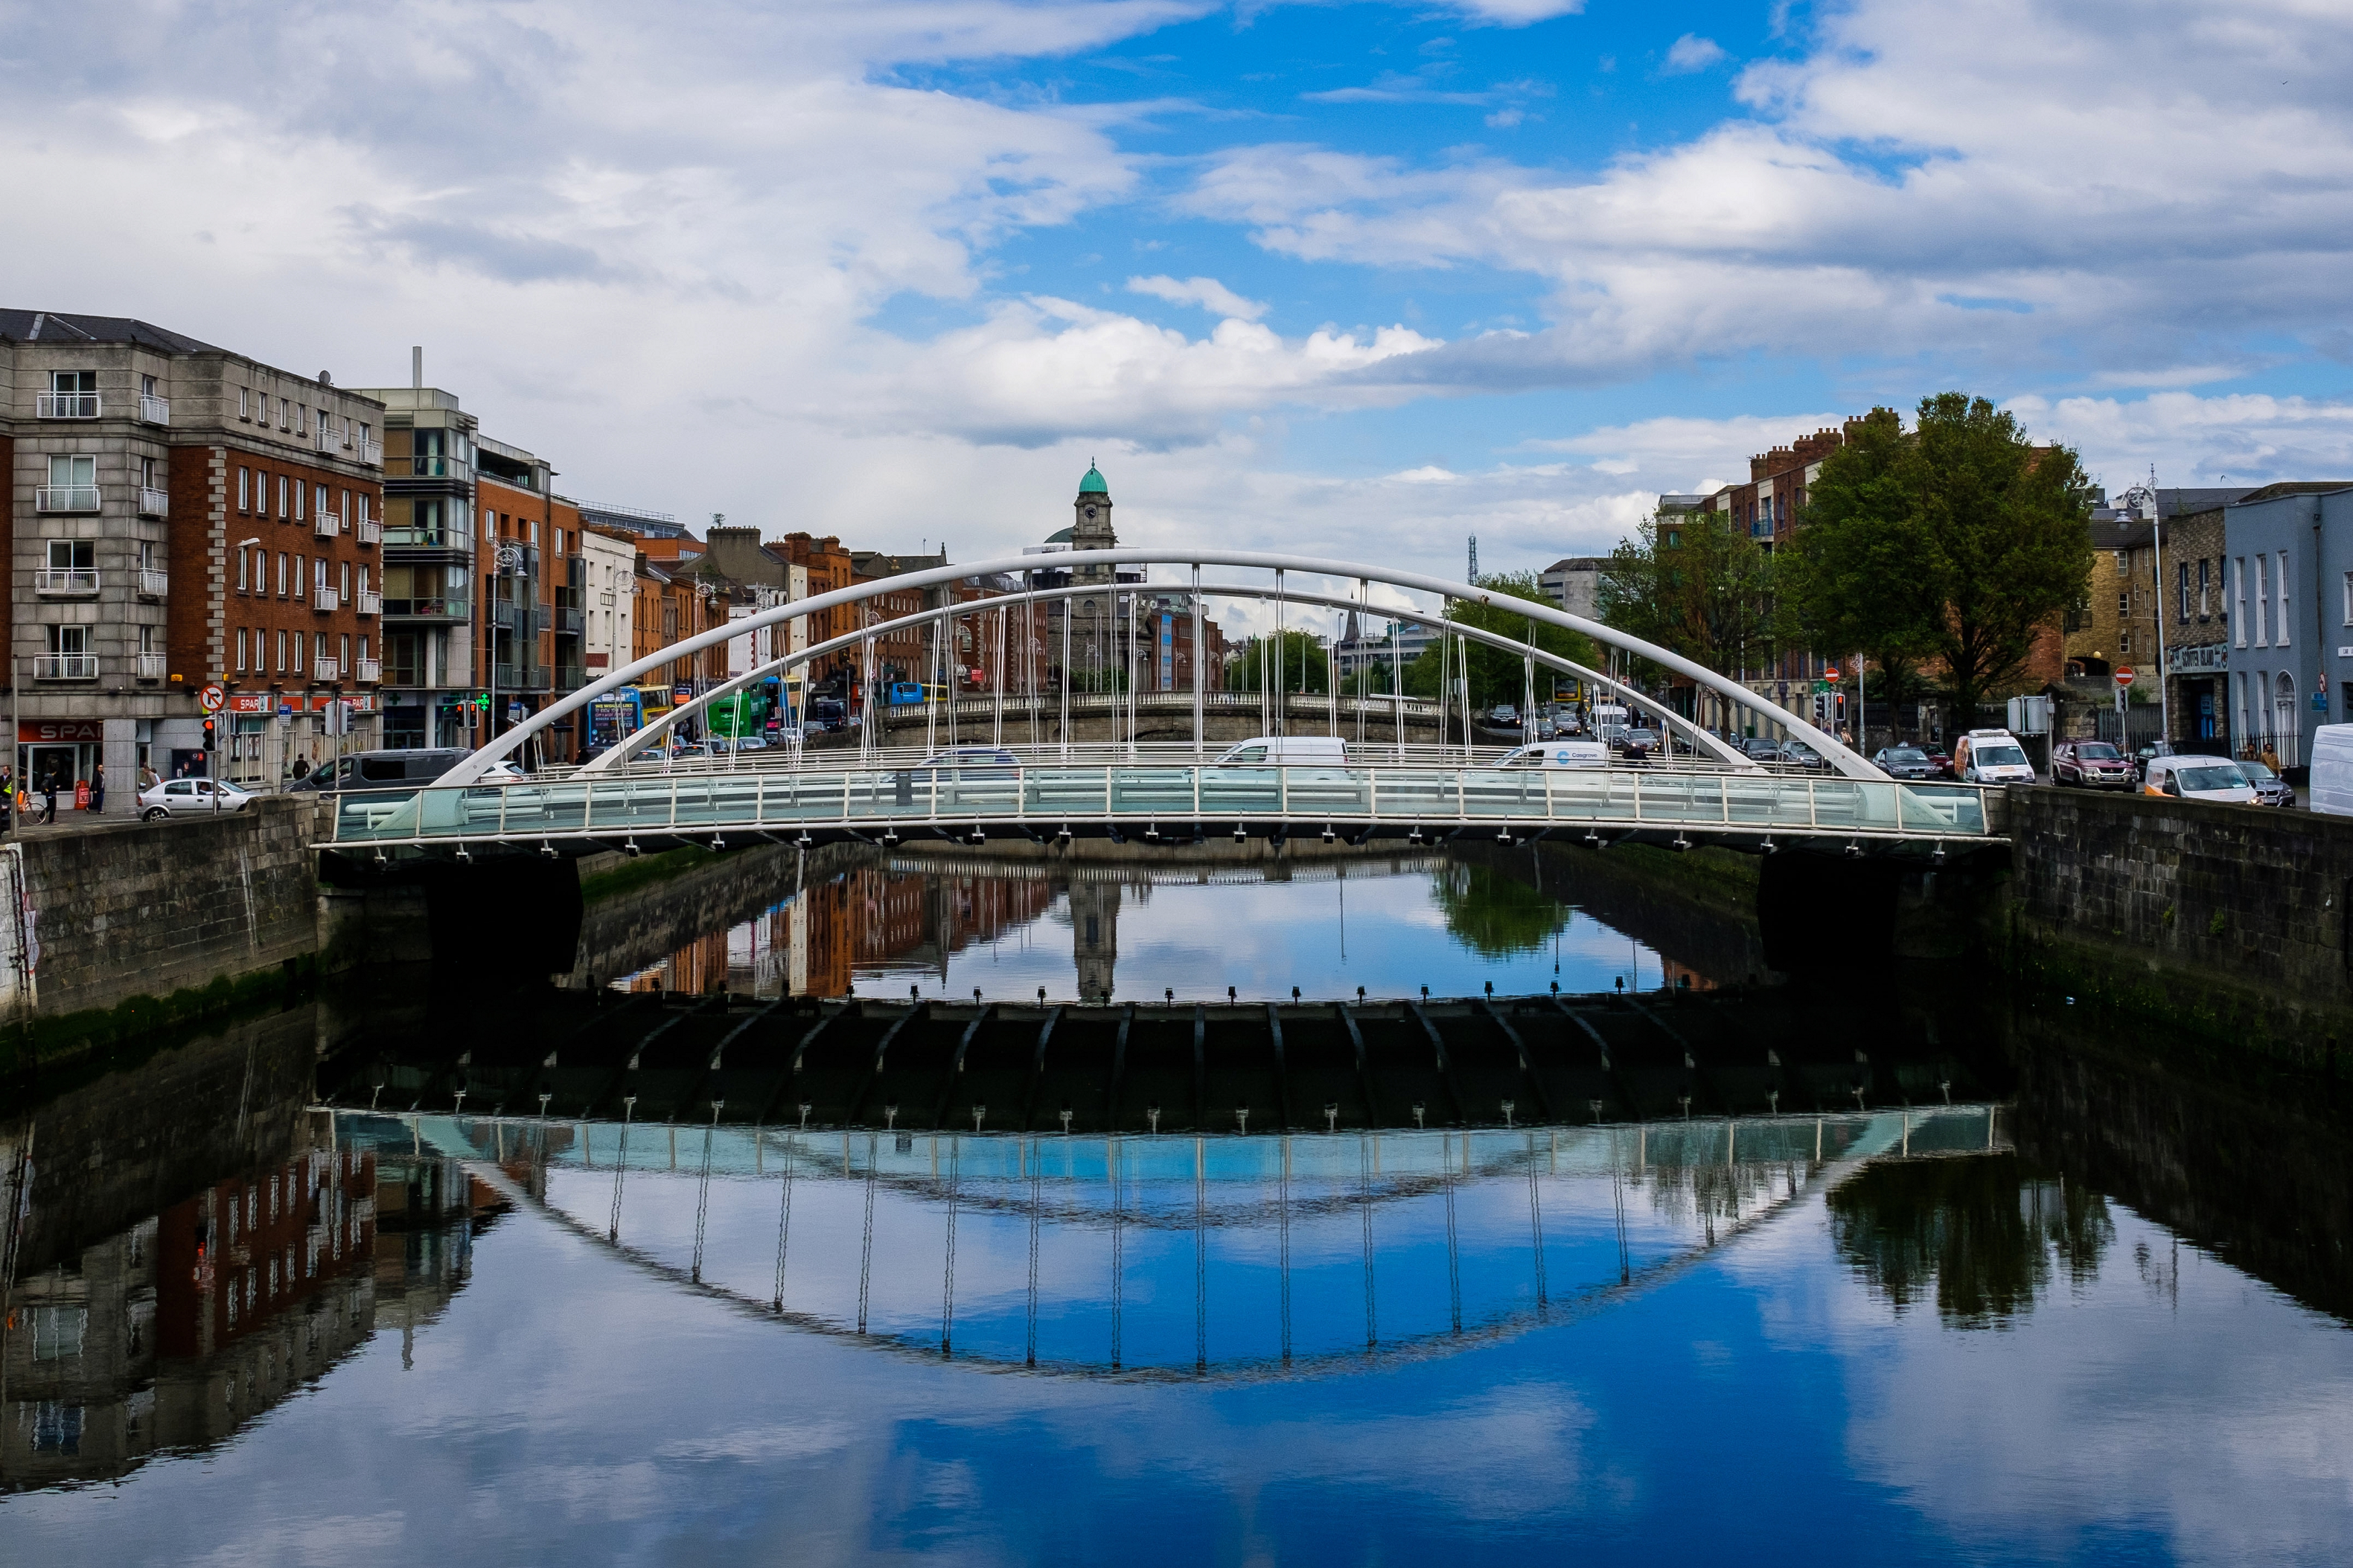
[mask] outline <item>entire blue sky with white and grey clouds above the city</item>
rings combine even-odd
[[[2111,487],[2353,475],[2344,80],[2297,0],[0,5],[78,235],[7,303],[424,343],[774,534],[1009,552],[1101,458],[1129,541],[1541,567],[1955,386]]]

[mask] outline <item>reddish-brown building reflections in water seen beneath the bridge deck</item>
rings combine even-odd
[[[1052,903],[1047,882],[894,875],[861,865],[701,936],[619,985],[847,997],[859,973],[946,973],[948,957],[1035,922]]]

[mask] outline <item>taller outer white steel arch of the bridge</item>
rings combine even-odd
[[[939,588],[939,585],[960,583],[960,581],[974,578],[974,576],[1021,576],[1021,574],[1028,574],[1028,571],[1040,571],[1040,567],[1052,569],[1052,571],[1078,571],[1078,569],[1085,569],[1085,567],[1155,567],[1155,564],[1158,567],[1193,567],[1193,569],[1200,569],[1200,567],[1242,567],[1242,569],[1249,569],[1249,571],[1282,571],[1282,574],[1301,571],[1301,574],[1308,574],[1308,576],[1325,576],[1325,578],[1341,578],[1341,581],[1358,581],[1358,583],[1381,583],[1386,588],[1405,588],[1409,592],[1438,595],[1440,599],[1464,599],[1466,604],[1497,604],[1499,597],[1501,599],[1511,599],[1511,611],[1518,614],[1518,616],[1522,616],[1522,618],[1527,618],[1527,621],[1541,621],[1546,625],[1558,625],[1558,628],[1565,628],[1565,630],[1572,630],[1572,632],[1581,632],[1581,635],[1593,637],[1595,642],[1600,642],[1605,646],[1619,649],[1624,654],[1633,654],[1635,658],[1647,658],[1647,661],[1652,661],[1652,663],[1657,663],[1657,665],[1661,665],[1666,670],[1673,670],[1675,675],[1687,677],[1689,682],[1694,682],[1699,686],[1706,686],[1708,691],[1727,698],[1729,703],[1734,703],[1739,708],[1748,708],[1753,712],[1760,712],[1760,715],[1769,717],[1774,724],[1781,724],[1788,733],[1793,733],[1800,741],[1809,743],[1817,752],[1821,752],[1821,757],[1833,769],[1838,769],[1847,778],[1866,778],[1866,780],[1885,780],[1887,778],[1887,773],[1882,773],[1880,769],[1875,769],[1871,762],[1866,762],[1852,748],[1842,745],[1835,736],[1817,729],[1814,724],[1800,719],[1798,715],[1788,712],[1786,708],[1760,698],[1755,691],[1748,691],[1739,682],[1732,682],[1732,679],[1718,675],[1715,670],[1708,670],[1706,665],[1685,658],[1682,654],[1671,654],[1668,649],[1661,649],[1661,646],[1657,646],[1652,642],[1645,642],[1640,637],[1631,637],[1631,635],[1626,635],[1626,632],[1621,632],[1617,628],[1602,625],[1600,621],[1586,621],[1584,616],[1572,616],[1565,609],[1553,609],[1551,604],[1537,604],[1534,599],[1518,599],[1518,597],[1511,597],[1511,595],[1497,595],[1492,588],[1480,588],[1475,583],[1454,583],[1449,578],[1426,576],[1426,574],[1419,574],[1419,571],[1395,571],[1395,569],[1388,569],[1388,567],[1369,567],[1369,564],[1362,564],[1362,562],[1339,562],[1339,559],[1325,559],[1325,557],[1318,557],[1318,555],[1282,555],[1282,552],[1273,552],[1273,550],[1158,550],[1158,548],[1127,548],[1127,545],[1122,545],[1122,548],[1113,548],[1113,550],[1068,550],[1068,552],[1052,555],[1052,557],[1012,555],[1012,557],[1000,557],[1000,559],[988,559],[988,562],[969,562],[969,564],[962,564],[962,567],[929,567],[925,571],[904,571],[899,576],[875,578],[873,583],[859,583],[859,585],[852,585],[852,588],[835,588],[833,592],[812,595],[807,599],[793,599],[788,604],[776,604],[776,607],[755,611],[755,614],[751,614],[751,616],[746,616],[741,621],[729,621],[727,625],[713,625],[713,628],[708,628],[704,632],[694,632],[689,637],[680,637],[678,642],[673,642],[671,646],[661,649],[659,654],[647,654],[645,658],[640,658],[635,663],[628,663],[628,665],[624,665],[619,670],[612,670],[605,677],[600,677],[600,679],[581,686],[579,691],[565,696],[562,701],[551,703],[548,708],[541,708],[529,719],[525,719],[515,729],[506,731],[504,736],[499,736],[489,745],[485,745],[485,748],[466,755],[456,766],[452,766],[447,773],[442,773],[435,780],[435,785],[468,785],[468,783],[475,783],[482,773],[487,773],[504,757],[511,757],[515,750],[520,750],[532,736],[536,736],[544,729],[548,729],[551,724],[555,724],[555,719],[562,719],[567,715],[581,712],[595,698],[607,696],[609,691],[619,691],[621,686],[628,686],[631,682],[638,682],[645,675],[652,675],[654,670],[659,670],[659,668],[664,668],[664,665],[668,665],[668,663],[673,663],[678,658],[685,658],[687,654],[699,654],[704,649],[725,646],[727,642],[732,642],[736,637],[744,637],[746,632],[755,632],[760,628],[767,628],[767,625],[786,625],[791,621],[798,621],[802,616],[814,616],[819,611],[838,609],[838,607],[845,607],[845,604],[864,604],[866,599],[880,597],[885,592],[906,592],[911,588]],[[1148,585],[1139,583],[1136,588],[1141,590],[1141,588],[1148,588]],[[1176,588],[1176,585],[1169,585],[1169,588]],[[1094,583],[1092,590],[1094,592],[1118,592],[1118,583]],[[1285,592],[1282,597],[1289,597],[1289,592]],[[972,614],[972,611],[967,611],[967,614]],[[882,623],[878,623],[878,625],[882,625]],[[873,630],[875,628],[861,628],[861,635],[873,632]],[[1468,630],[1468,628],[1464,628],[1464,630]]]

